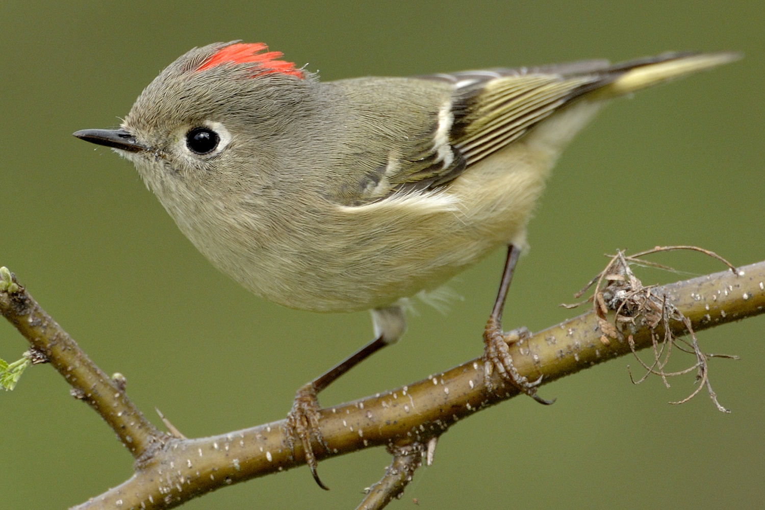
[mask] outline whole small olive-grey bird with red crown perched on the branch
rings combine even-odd
[[[324,83],[280,57],[264,44],[190,50],[121,128],[74,135],[133,161],[197,249],[255,294],[301,310],[373,310],[377,339],[301,388],[291,411],[315,476],[316,393],[399,339],[402,298],[500,245],[523,246],[555,159],[608,99],[738,56]],[[532,395],[501,335],[490,336],[490,365]]]

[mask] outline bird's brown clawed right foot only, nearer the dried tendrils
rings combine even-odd
[[[525,327],[519,327],[516,330],[503,332],[502,326],[498,320],[490,318],[483,330],[483,369],[484,382],[487,388],[491,388],[491,375],[496,369],[500,378],[509,384],[515,386],[529,397],[538,401],[540,404],[552,404],[553,400],[545,400],[536,394],[536,387],[542,382],[542,376],[536,381],[529,382],[529,379],[520,375],[515,365],[513,365],[513,356],[510,356],[508,346],[519,342],[521,339],[530,338],[531,333]]]

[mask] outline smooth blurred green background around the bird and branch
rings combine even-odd
[[[187,436],[284,417],[298,386],[371,337],[366,313],[254,297],[178,232],[132,165],[78,141],[119,124],[168,63],[213,41],[265,41],[324,80],[520,66],[665,50],[745,59],[619,100],[565,152],[529,228],[506,326],[532,330],[602,268],[604,252],[694,244],[765,258],[765,5],[736,2],[37,2],[0,4],[0,265],[159,423]],[[445,317],[424,304],[399,345],[321,395],[339,403],[481,352],[502,253],[461,274]],[[690,274],[701,255],[656,258]],[[644,270],[644,283],[685,274]],[[391,508],[745,508],[765,500],[765,317],[702,333],[711,381],[633,386],[617,359],[455,426]],[[0,357],[27,343],[0,323]],[[690,362],[689,359],[684,360]],[[367,450],[229,487],[184,508],[354,508],[389,456]],[[0,506],[64,508],[130,476],[132,458],[45,365],[0,395]]]

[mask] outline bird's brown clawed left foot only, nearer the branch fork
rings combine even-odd
[[[316,473],[318,463],[314,455],[314,447],[312,446],[312,441],[315,441],[326,450],[329,450],[324,437],[321,436],[321,430],[319,430],[319,410],[321,407],[319,406],[319,399],[316,393],[314,384],[309,382],[295,394],[295,401],[292,402],[292,408],[287,415],[285,437],[293,456],[295,456],[295,447],[298,444],[303,447],[305,463],[311,469],[311,476],[314,477],[318,486],[324,490],[329,490],[329,487],[321,482]]]

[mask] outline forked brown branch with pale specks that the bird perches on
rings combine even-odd
[[[604,340],[607,332],[599,322],[602,319],[590,310],[522,339],[510,346],[509,352],[521,375],[531,381],[542,376],[542,384],[546,384],[629,354],[632,348],[656,346],[652,333],[663,335],[665,326],[673,335],[681,336],[688,333],[687,324],[698,332],[763,313],[763,282],[765,261],[737,272],[724,271],[652,287],[651,294],[666,296],[666,304],[672,304],[688,322],[659,321],[652,330],[646,320],[637,320],[625,325],[630,341],[622,335],[620,339]],[[284,420],[198,439],[160,432],[127,398],[119,380],[112,381],[98,369],[15,276],[5,283],[4,290],[0,287],[0,312],[34,349],[44,352],[72,385],[73,395],[88,402],[137,459],[130,479],[76,508],[174,508],[222,486],[304,463],[300,447],[296,447],[294,456],[285,447]],[[606,318],[613,322],[614,311],[609,311]],[[418,463],[411,453],[401,453],[402,448],[428,444],[462,418],[518,395],[516,388],[496,377],[496,371],[491,388],[493,391],[488,391],[484,384],[483,360],[474,359],[412,385],[324,409],[321,432],[329,450],[315,444],[314,453],[321,460],[366,447],[386,446],[397,455],[392,467],[397,466],[397,460],[405,463],[407,477],[411,478]],[[432,443],[435,446],[435,441]],[[383,496],[389,500],[390,495],[396,495],[400,490],[397,487],[405,485],[405,478],[386,474],[382,485],[387,483],[393,489],[385,489]]]

